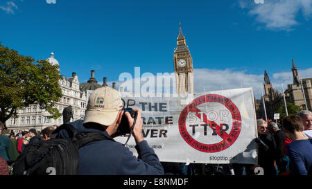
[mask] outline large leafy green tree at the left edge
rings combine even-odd
[[[46,109],[52,118],[62,114],[55,108],[60,101],[62,78],[59,66],[46,60],[35,61],[31,56],[19,55],[17,51],[0,43],[0,120],[6,123],[17,110],[34,102]]]

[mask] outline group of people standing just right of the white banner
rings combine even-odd
[[[286,116],[281,124],[259,119],[257,128],[262,142],[258,143],[258,164],[264,175],[311,174],[311,111]]]

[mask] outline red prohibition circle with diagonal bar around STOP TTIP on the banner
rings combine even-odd
[[[223,132],[222,125],[217,125],[214,123],[214,121],[208,120],[207,116],[204,117],[204,122],[207,123],[207,126],[209,126],[211,129],[214,129],[214,132],[218,134],[221,138],[223,138],[223,141],[220,141],[219,143],[215,144],[205,144],[200,143],[196,141],[190,134],[187,132],[187,125],[186,120],[187,116],[189,115],[189,112],[201,112],[200,109],[197,108],[198,105],[201,105],[206,102],[219,102],[222,105],[224,105],[229,112],[232,115],[232,129],[229,134],[226,132]],[[202,114],[205,115],[205,114]],[[193,147],[196,150],[199,150],[201,152],[220,152],[228,147],[230,147],[236,139],[239,137],[239,134],[241,132],[241,114],[239,112],[239,109],[234,105],[234,103],[229,100],[228,98],[216,94],[208,94],[204,96],[200,96],[196,99],[194,99],[187,107],[184,107],[182,110],[180,117],[179,117],[179,131],[184,139],[191,147]]]

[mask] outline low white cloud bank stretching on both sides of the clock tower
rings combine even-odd
[[[291,70],[291,68],[290,68]],[[194,87],[195,92],[200,93],[204,91],[219,91],[226,89],[239,89],[239,88],[249,88],[252,87],[252,91],[254,92],[254,96],[259,99],[261,97],[261,90],[263,90],[263,82],[264,82],[264,74],[248,74],[245,71],[234,71],[232,69],[225,70],[216,70],[216,69],[194,69]],[[263,71],[264,72],[264,71]],[[299,70],[300,78],[311,78],[312,68],[306,70]],[[174,73],[168,73],[169,75]],[[284,84],[284,90],[287,88],[287,84],[293,83],[293,73],[289,72],[281,72],[281,73],[268,73],[270,77],[270,82],[272,83],[272,87],[277,91],[281,92],[281,82]],[[172,75],[171,75],[172,76]],[[141,75],[142,77],[142,75]],[[175,93],[175,81],[172,81],[171,84],[162,84],[163,89],[159,89],[159,85],[157,84],[156,77],[152,77],[151,79],[145,80],[150,77],[142,77],[136,78],[134,80],[130,79],[127,82],[123,83],[122,81],[112,81],[116,82],[116,89],[119,89],[121,86],[126,86],[128,84],[132,85],[130,87],[130,91],[135,91],[135,82],[141,79],[141,91],[144,89],[144,85],[148,81],[155,80],[155,89],[150,92],[155,91],[170,91],[170,93]],[[164,77],[160,77],[162,79]],[[175,77],[172,77],[175,80]],[[107,82],[107,84],[112,87],[112,82]],[[101,83],[101,82],[99,82]],[[102,83],[101,83],[102,84]],[[173,91],[174,90],[174,91]],[[144,91],[144,90],[143,90]]]

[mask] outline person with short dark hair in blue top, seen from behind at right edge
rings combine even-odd
[[[283,129],[293,140],[287,145],[287,154],[291,160],[291,173],[299,175],[312,174],[312,138],[302,133],[304,125],[298,116],[287,116],[283,119]]]

